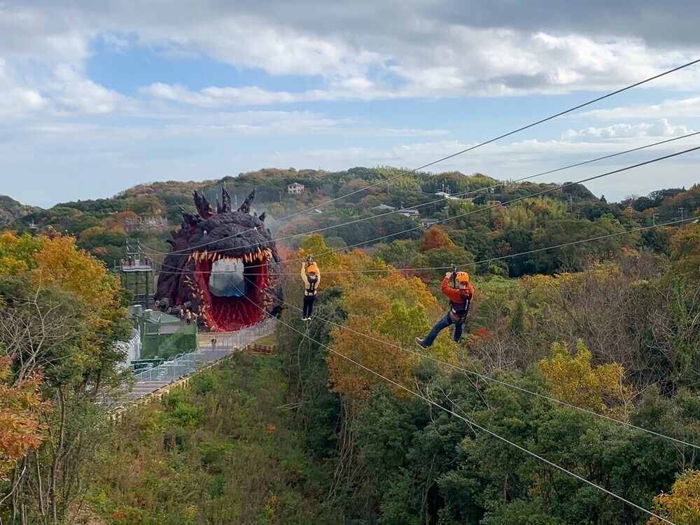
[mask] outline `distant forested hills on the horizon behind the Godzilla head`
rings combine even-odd
[[[328,228],[325,238],[332,248],[367,248],[377,244],[367,241],[383,237],[375,249],[384,250],[384,260],[396,264],[411,260],[414,265],[426,266],[426,261],[418,258],[415,250],[405,253],[406,246],[391,244],[420,239],[422,232],[416,228],[420,221],[440,221],[443,229],[450,232],[451,242],[463,251],[442,253],[440,260],[433,257],[435,260],[428,262],[435,267],[449,264],[449,260],[495,259],[565,241],[678,221],[680,210],[684,218],[692,217],[700,202],[700,186],[697,185],[688,190],[660,189],[645,197],[612,203],[579,184],[558,189],[561,185],[554,183],[514,183],[482,174],[404,172],[389,167],[356,167],[342,172],[262,169],[219,180],[151,183],[135,186],[109,199],[66,202],[48,210],[34,209],[20,218],[15,215],[12,228],[27,231],[34,222],[40,231],[52,228],[68,232],[76,236],[80,247],[97,255],[107,265],[125,256],[128,230],[129,237],[136,237],[144,246],[149,246],[150,255],[158,261],[167,251],[164,243],[167,232],[162,231],[165,228],[139,223],[153,217],[165,218],[168,228],[176,228],[181,222],[181,208],[195,210],[193,190],[203,192],[214,203],[221,195],[221,188],[226,188],[234,202],[240,203],[255,189],[253,208],[266,212],[273,233],[285,237],[284,243],[291,249],[301,245],[306,232]],[[303,188],[298,194],[289,193],[290,185],[295,183]],[[529,199],[529,195],[538,197]],[[337,202],[323,205],[334,199],[338,199]],[[10,207],[16,210],[18,203],[13,203],[9,202]],[[10,207],[5,205],[8,216]],[[413,209],[414,216],[399,213],[402,209]],[[303,213],[290,221],[275,222],[276,218],[299,211]],[[381,217],[369,220],[379,215]],[[136,226],[130,228],[129,223]],[[605,246],[599,243],[570,248],[561,256],[540,253],[529,258],[494,262],[480,267],[479,271],[520,276],[577,269],[578,262],[598,256],[601,249],[611,253],[629,242],[668,255],[670,235],[670,229],[658,228],[634,239],[615,238]]]

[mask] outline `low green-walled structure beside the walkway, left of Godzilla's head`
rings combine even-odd
[[[134,328],[141,335],[141,359],[172,358],[197,349],[197,325],[187,325],[165,312],[129,307]]]

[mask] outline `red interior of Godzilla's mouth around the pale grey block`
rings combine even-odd
[[[267,260],[246,263],[248,290],[241,297],[218,297],[209,293],[211,260],[195,262],[197,289],[202,293],[200,312],[212,332],[233,332],[262,321],[265,297],[262,288],[267,281]]]

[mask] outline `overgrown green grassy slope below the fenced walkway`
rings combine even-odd
[[[277,409],[280,370],[274,357],[239,353],[165,405],[127,412],[95,465],[93,508],[144,524],[336,522],[322,505],[325,472]]]

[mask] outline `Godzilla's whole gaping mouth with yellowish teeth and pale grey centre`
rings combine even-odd
[[[262,320],[269,295],[267,265],[272,251],[265,248],[228,255],[195,251],[195,279],[186,282],[200,303],[204,323],[216,332],[231,332]]]

